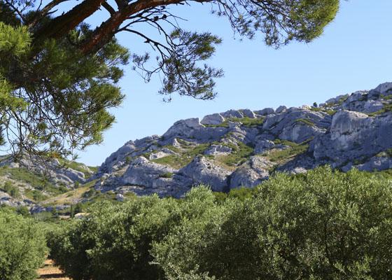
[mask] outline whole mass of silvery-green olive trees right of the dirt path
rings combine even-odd
[[[389,279],[392,181],[328,167],[228,195],[97,204],[53,232],[79,279]]]

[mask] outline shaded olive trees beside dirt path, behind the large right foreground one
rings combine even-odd
[[[152,196],[94,204],[88,218],[50,236],[50,256],[75,280],[164,279],[162,268],[151,263],[153,242],[213,207],[205,188],[181,202]]]

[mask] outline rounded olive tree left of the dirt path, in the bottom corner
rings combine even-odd
[[[45,235],[31,218],[0,208],[0,279],[34,280],[47,252]]]

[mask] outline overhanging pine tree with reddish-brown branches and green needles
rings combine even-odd
[[[128,62],[146,81],[160,76],[165,100],[213,99],[223,71],[207,60],[221,38],[184,30],[173,6],[209,3],[236,34],[275,48],[316,38],[339,7],[339,0],[83,0],[60,14],[65,1],[0,0],[0,126],[15,155],[67,156],[102,142],[114,121],[109,111],[124,97],[118,80]],[[101,9],[102,24],[86,25]],[[120,32],[147,52],[130,55],[116,42]]]

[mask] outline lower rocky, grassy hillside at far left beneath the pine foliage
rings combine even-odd
[[[41,207],[42,201],[78,188],[93,174],[92,169],[77,162],[42,160],[28,155],[15,161],[3,156],[0,159],[0,204],[25,206],[31,211],[45,210]]]

